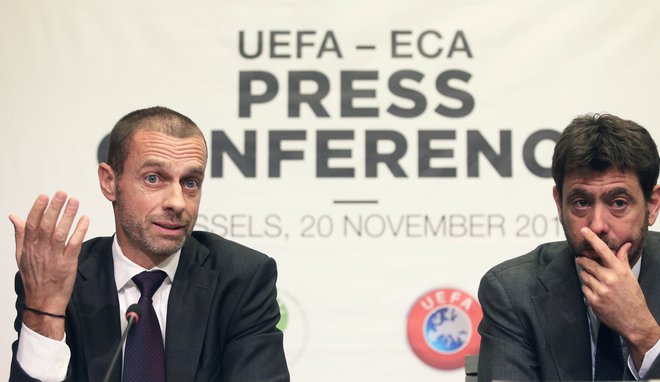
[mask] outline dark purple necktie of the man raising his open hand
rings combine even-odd
[[[124,353],[124,381],[165,381],[165,347],[158,317],[151,298],[163,283],[167,274],[163,271],[142,272],[133,277],[140,289],[142,315],[126,339]]]

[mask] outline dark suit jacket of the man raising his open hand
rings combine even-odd
[[[121,336],[112,238],[84,243],[66,310],[71,381],[100,381]],[[282,332],[275,325],[275,261],[217,235],[193,232],[181,251],[167,308],[167,381],[288,381]],[[23,287],[16,276],[17,317]],[[10,380],[33,381],[16,362]],[[120,380],[121,362],[113,371]]]

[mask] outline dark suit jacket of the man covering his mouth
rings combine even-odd
[[[639,283],[657,321],[660,233],[647,235]],[[587,308],[566,242],[541,245],[488,271],[479,286],[479,301],[484,312],[479,381],[592,379]],[[659,377],[657,359],[645,378]]]

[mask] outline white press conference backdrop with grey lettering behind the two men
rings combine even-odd
[[[431,364],[465,349],[413,351],[410,318],[442,305],[436,290],[471,301],[488,268],[563,237],[552,180],[529,165],[550,166],[554,142],[537,134],[610,112],[660,139],[658,20],[652,0],[0,0],[0,215],[62,189],[89,237],[112,234],[99,144],[129,111],[171,107],[213,151],[198,228],[277,260],[293,380],[461,381]],[[297,93],[317,103],[296,114]],[[223,154],[246,142],[253,176]],[[300,159],[278,162],[278,147]],[[16,265],[0,228],[4,379]]]

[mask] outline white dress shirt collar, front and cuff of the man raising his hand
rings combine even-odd
[[[167,304],[172,289],[172,282],[176,268],[179,265],[181,251],[177,251],[169,256],[158,266],[150,270],[162,270],[167,277],[160,288],[154,293],[153,305],[158,316],[160,329],[165,343],[165,327],[167,324]],[[147,269],[135,264],[129,260],[117,242],[115,235],[112,243],[112,260],[115,273],[115,285],[117,286],[117,296],[119,298],[119,320],[121,330],[126,328],[126,309],[140,298],[140,290],[132,280],[132,277]],[[105,330],[106,328],[99,328]],[[71,351],[66,344],[65,338],[61,341],[42,336],[25,324],[21,327],[21,333],[18,339],[18,349],[16,351],[16,360],[21,368],[30,375],[45,382],[57,382],[66,378],[66,372],[71,359]],[[109,366],[109,365],[108,365]]]

